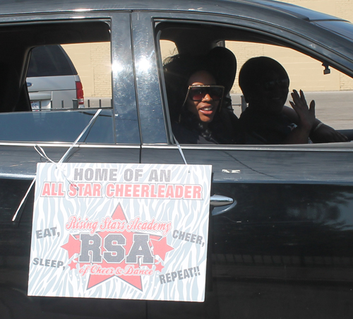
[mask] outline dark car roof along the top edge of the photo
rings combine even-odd
[[[271,0],[1,0],[0,16],[63,11],[195,11],[249,16],[270,9],[273,15],[291,15],[303,20],[342,20],[293,4]]]

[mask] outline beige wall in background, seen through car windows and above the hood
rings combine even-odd
[[[353,0],[283,0],[282,2],[304,6],[353,21]],[[251,56],[265,55],[277,59],[288,71],[292,88],[302,88],[306,91],[353,90],[352,78],[341,75],[335,70],[331,71],[330,76],[323,76],[323,67],[320,62],[298,55],[294,51],[246,43],[241,45],[227,43],[227,45],[236,54],[239,68]],[[76,66],[83,83],[85,97],[111,97],[109,43],[69,44],[63,47]],[[165,58],[171,54],[174,54],[173,46],[165,42],[162,46],[162,56]],[[304,74],[298,72],[298,65],[305,66]],[[237,79],[232,91],[240,92]]]

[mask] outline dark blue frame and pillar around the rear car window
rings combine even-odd
[[[130,11],[88,11],[88,12],[69,12],[69,13],[40,13],[35,14],[23,14],[14,20],[8,16],[0,16],[0,26],[16,26],[26,25],[35,23],[80,23],[85,21],[104,21],[109,23],[110,26],[110,42],[111,42],[111,62],[114,65],[114,61],[123,61],[124,66],[120,70],[113,70],[112,68],[112,126],[114,129],[114,144],[131,144],[140,145],[140,128],[138,125],[138,114],[136,105],[135,95],[135,80],[133,73],[133,61],[131,53],[131,16]],[[29,56],[28,56],[29,61]],[[116,83],[123,83],[124,85],[116,85]],[[92,108],[93,109],[93,108]],[[91,110],[92,110],[91,109]],[[108,108],[109,109],[109,108]],[[82,112],[84,109],[78,109],[77,112]],[[67,111],[72,112],[72,109]],[[127,114],[127,118],[124,118],[124,114]],[[0,114],[1,116],[1,114]],[[125,123],[123,123],[125,122]],[[131,136],[126,138],[126,128],[131,133]],[[75,136],[77,138],[77,136]],[[54,142],[54,141],[53,141]],[[27,145],[28,141],[10,141],[4,140],[2,143],[23,143]],[[0,142],[0,144],[2,144]],[[38,142],[47,143],[47,142]],[[61,143],[59,143],[61,144]],[[63,142],[67,144],[67,142]],[[80,144],[80,143],[78,143]],[[85,143],[83,143],[85,144]],[[102,143],[92,143],[90,145],[100,145]],[[57,145],[57,143],[56,143]],[[107,145],[107,144],[103,144]]]

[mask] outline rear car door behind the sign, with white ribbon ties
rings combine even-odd
[[[2,63],[12,66],[8,72],[11,79],[15,76],[17,80],[25,79],[23,74],[21,77],[15,73],[25,66],[29,54],[24,54],[30,52],[31,47],[86,42],[87,46],[97,46],[100,42],[109,44],[106,56],[109,57],[108,74],[112,76],[107,107],[102,107],[101,103],[100,107],[95,107],[98,103],[92,105],[92,101],[89,107],[86,100],[85,109],[71,107],[55,112],[32,112],[25,80],[22,80],[18,103],[8,98],[8,109],[28,111],[0,113],[1,318],[29,318],[29,313],[31,318],[113,318],[115,315],[143,318],[145,303],[139,301],[27,296],[34,198],[34,188],[30,185],[37,163],[140,161],[129,13],[88,11],[1,17],[0,33],[6,47],[1,53]],[[18,54],[13,54],[16,49]],[[99,78],[95,81],[97,85],[102,84]],[[15,95],[15,89],[15,86],[1,88],[1,96]],[[4,104],[1,107],[1,111],[6,109]]]

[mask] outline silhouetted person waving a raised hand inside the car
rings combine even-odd
[[[274,59],[249,59],[239,73],[239,86],[249,107],[238,121],[240,144],[305,144],[311,140],[345,142],[347,138],[315,117],[315,101],[308,107],[304,92],[293,90],[293,109],[285,107],[289,76]],[[293,111],[294,110],[294,111]],[[319,131],[320,130],[320,131]]]

